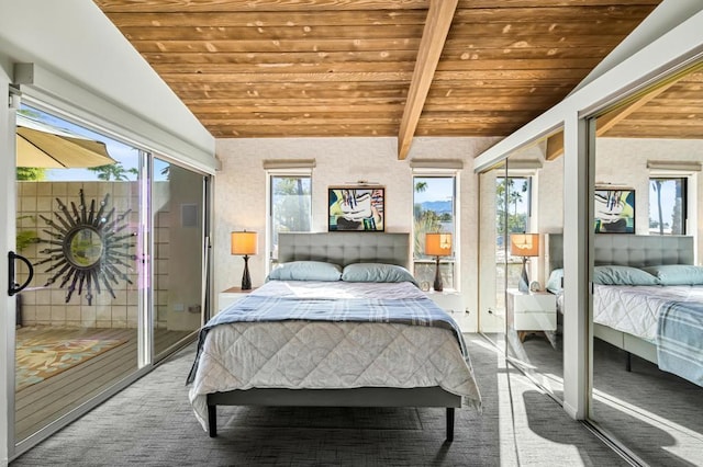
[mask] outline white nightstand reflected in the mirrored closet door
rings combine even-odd
[[[549,340],[546,332],[557,330],[557,296],[548,292],[509,288],[507,326],[517,332],[521,342],[531,332],[542,332]]]

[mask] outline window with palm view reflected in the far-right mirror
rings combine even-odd
[[[687,179],[649,179],[649,235],[685,235]]]

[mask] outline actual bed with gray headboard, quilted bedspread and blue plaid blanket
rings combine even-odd
[[[201,329],[188,381],[203,429],[216,436],[217,406],[439,407],[451,441],[455,409],[481,399],[409,262],[408,234],[280,234],[281,266]]]

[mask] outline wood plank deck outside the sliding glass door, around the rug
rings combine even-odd
[[[187,338],[190,331],[155,330],[159,355]],[[18,338],[45,338],[47,341],[81,339],[125,340],[51,378],[15,392],[15,441],[22,441],[48,423],[67,414],[137,369],[136,329],[65,329],[30,327],[16,330]]]

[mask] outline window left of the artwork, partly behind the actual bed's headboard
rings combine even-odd
[[[312,226],[312,176],[270,174],[269,259],[278,259],[279,232],[306,232]]]

